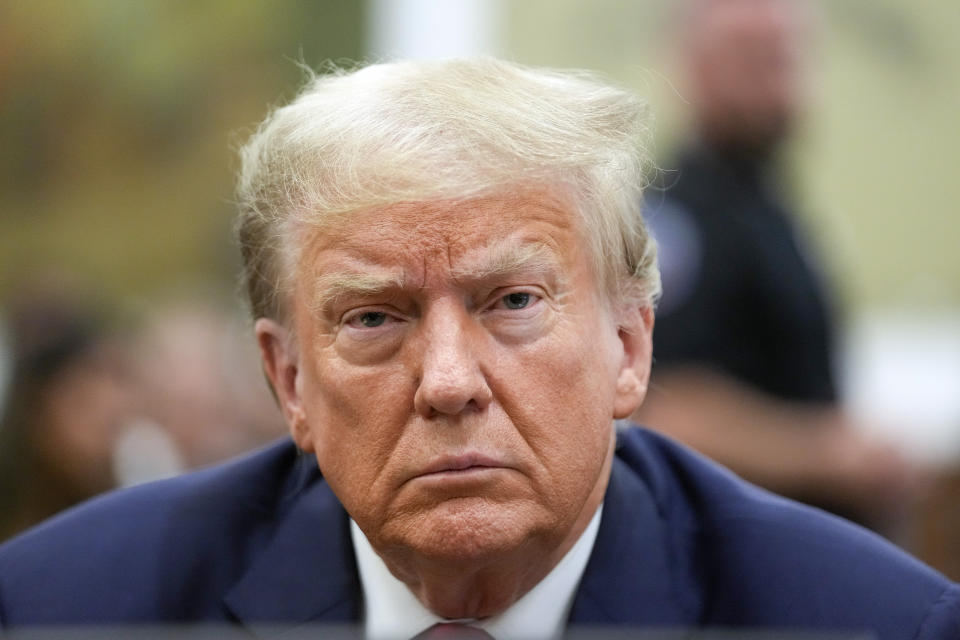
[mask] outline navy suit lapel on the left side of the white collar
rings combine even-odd
[[[349,520],[312,456],[292,504],[224,602],[248,626],[347,623],[360,617],[361,590]],[[312,469],[310,466],[312,465]]]

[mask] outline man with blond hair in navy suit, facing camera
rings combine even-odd
[[[960,631],[960,588],[871,534],[618,435],[658,293],[644,130],[628,93],[495,60],[315,79],[239,181],[296,448],[11,542],[0,621]]]

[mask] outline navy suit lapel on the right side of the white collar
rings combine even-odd
[[[570,613],[571,624],[664,625],[696,621],[676,540],[636,470],[615,457],[600,530]],[[686,599],[683,600],[683,599]]]

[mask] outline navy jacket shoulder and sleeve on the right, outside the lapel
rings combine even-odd
[[[645,429],[622,432],[617,455],[676,534],[706,624],[960,637],[960,587],[874,533]]]

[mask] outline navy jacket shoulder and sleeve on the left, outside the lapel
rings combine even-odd
[[[269,535],[298,462],[289,441],[74,507],[0,546],[0,623],[216,618]],[[315,466],[313,467],[315,469]],[[184,589],[184,585],[190,585]]]

